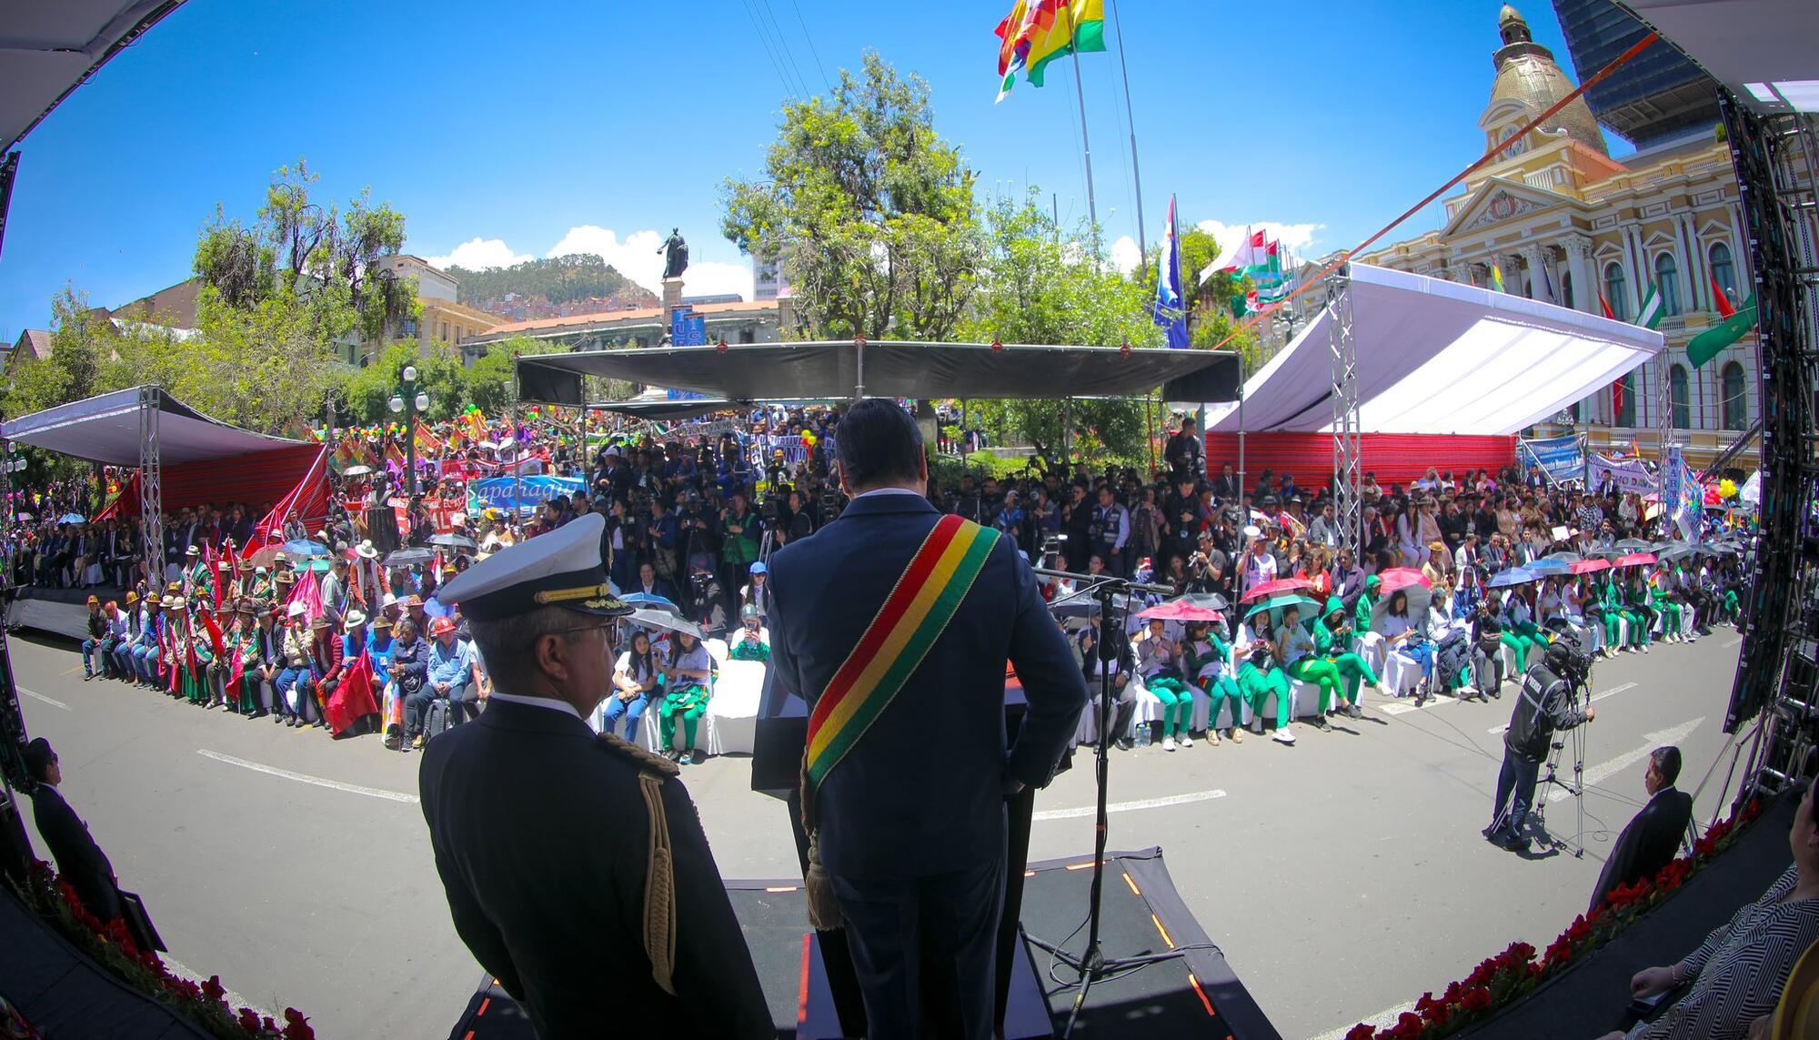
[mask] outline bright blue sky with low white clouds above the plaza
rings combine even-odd
[[[422,256],[593,251],[655,284],[657,233],[680,225],[688,291],[746,291],[719,185],[762,173],[784,96],[822,91],[868,47],[928,80],[939,133],[986,191],[1035,184],[1080,216],[1073,71],[993,104],[1008,7],[189,0],[22,142],[0,336],[44,327],[65,282],[98,305],[180,282],[215,205],[251,216],[298,156],[322,198],[369,185],[406,213]],[[1170,193],[1182,222],[1275,222],[1302,255],[1375,231],[1482,151],[1499,7],[1121,4],[1148,240]],[[1572,75],[1552,5],[1523,13]],[[1106,240],[1135,238],[1115,51],[1082,75]]]

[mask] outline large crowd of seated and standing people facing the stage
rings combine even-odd
[[[760,409],[668,436],[537,420],[457,424],[418,460],[415,495],[391,433],[351,436],[353,449],[337,453],[351,475],[333,480],[327,518],[313,531],[298,516],[269,520],[273,542],[315,542],[309,551],[238,555],[271,505],[198,504],[164,518],[164,556],[176,564],[158,582],[138,564],[135,524],[116,518],[15,531],[13,578],[124,589],[106,602],[91,596],[89,675],[286,725],[378,729],[407,747],[422,740],[435,702],[458,724],[489,691],[458,611],[437,600],[440,584],[475,558],[598,513],[615,587],[695,635],[646,625],[638,638],[628,625],[613,651],[615,695],[595,725],[624,720],[637,738],[646,709],[658,705],[664,745],[693,758],[715,660],[769,653],[766,560],[844,507],[829,467],[831,409]],[[1122,747],[1151,736],[1168,751],[1197,738],[1242,742],[1246,718],[1251,735],[1291,744],[1297,687],[1311,687],[1306,724],[1322,731],[1332,716],[1362,711],[1362,689],[1417,704],[1442,693],[1495,698],[1555,638],[1595,655],[1692,642],[1735,616],[1748,575],[1744,531],[1701,531],[1664,547],[1666,525],[1639,495],[1559,485],[1541,469],[1428,469],[1408,487],[1366,473],[1353,551],[1328,489],[1270,471],[1241,482],[1230,462],[1210,473],[1191,420],[1171,431],[1162,462],[1144,480],[1130,467],[1031,460],[1008,476],[968,471],[928,489],[937,509],[997,527],[1030,562],[1080,575],[1046,580],[1053,604],[1084,598],[1099,578],[1213,604],[1186,624],[1146,624],[1135,615],[1166,596],[1139,596],[1113,640],[1102,640],[1097,613],[1057,611],[1091,689],[1108,682],[1115,691]],[[502,509],[469,495],[467,484],[508,465],[577,489],[526,513],[511,507],[524,500]],[[35,505],[53,516],[69,491],[49,489]],[[1732,540],[1704,544],[1721,535]],[[1648,562],[1628,553],[1655,547],[1663,555]],[[1264,593],[1297,602],[1257,611],[1271,598]],[[702,642],[720,658],[704,665]],[[362,660],[378,715],[371,725],[331,711]],[[1155,727],[1133,722],[1139,691],[1157,702]]]

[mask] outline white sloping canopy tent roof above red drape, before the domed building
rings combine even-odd
[[[1359,429],[1513,435],[1610,385],[1663,349],[1661,333],[1386,267],[1352,264]],[[1333,429],[1333,307],[1208,405],[1217,433]]]

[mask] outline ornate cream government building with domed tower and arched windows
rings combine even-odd
[[[1479,127],[1486,147],[1508,147],[1444,202],[1446,227],[1359,260],[1482,287],[1495,264],[1508,293],[1592,315],[1603,295],[1619,320],[1633,320],[1657,285],[1664,360],[1626,376],[1623,395],[1606,387],[1579,402],[1572,418],[1593,447],[1628,445],[1641,433],[1652,455],[1657,364],[1666,364],[1675,440],[1699,465],[1752,425],[1757,402],[1754,333],[1699,369],[1684,351],[1717,320],[1713,282],[1734,305],[1750,295],[1730,151],[1717,127],[1706,127],[1613,160],[1584,98],[1512,140],[1573,84],[1515,7],[1502,7],[1497,29],[1497,78]]]

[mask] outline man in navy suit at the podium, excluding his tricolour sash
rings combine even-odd
[[[769,560],[775,682],[811,709],[937,522],[951,522],[928,504],[922,436],[895,402],[853,405],[837,444],[851,505]],[[962,525],[955,540],[973,533]],[[1010,538],[997,536],[962,595],[897,696],[815,785],[820,864],[871,1040],[991,1036],[1004,795],[1048,784],[1086,704],[1068,640]],[[1006,660],[1028,696],[1008,749]],[[940,971],[919,967],[931,964]]]

